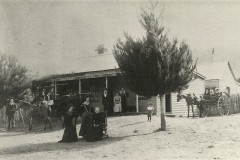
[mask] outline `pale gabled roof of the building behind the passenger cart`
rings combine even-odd
[[[232,67],[228,61],[202,63],[197,65],[196,72],[202,74],[206,79],[220,79],[230,70],[233,79],[236,80]]]

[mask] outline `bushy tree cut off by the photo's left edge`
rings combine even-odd
[[[9,97],[23,99],[29,94],[31,76],[14,56],[0,55],[0,106]]]

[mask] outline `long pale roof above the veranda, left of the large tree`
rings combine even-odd
[[[73,77],[89,77],[101,76],[105,74],[115,73],[118,64],[112,54],[101,54],[89,57],[66,59],[64,64],[59,65],[59,72],[47,75],[37,79],[36,81],[49,81],[49,80],[65,80]]]

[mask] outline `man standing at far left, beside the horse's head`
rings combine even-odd
[[[14,99],[10,98],[9,104],[7,105],[7,109],[6,109],[6,115],[8,117],[8,130],[10,130],[11,126],[12,126],[12,129],[15,128],[14,115],[15,115],[16,109],[17,109],[17,106],[14,103]]]

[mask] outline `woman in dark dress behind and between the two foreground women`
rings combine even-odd
[[[92,113],[94,113],[94,108],[91,105],[89,96],[86,97],[86,100],[83,102],[82,109],[83,114],[79,136],[85,138],[89,134],[89,128],[92,126]]]

